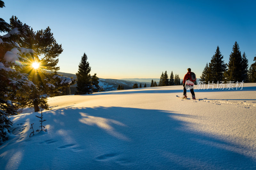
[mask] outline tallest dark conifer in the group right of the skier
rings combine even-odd
[[[229,62],[227,66],[228,71],[224,73],[224,80],[241,82],[243,80],[243,66],[242,56],[237,42],[235,42],[232,52],[229,55]]]

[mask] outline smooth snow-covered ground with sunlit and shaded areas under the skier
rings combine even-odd
[[[182,88],[49,98],[47,132],[29,137],[39,113],[12,116],[0,169],[256,169],[256,83],[196,89],[200,100]]]

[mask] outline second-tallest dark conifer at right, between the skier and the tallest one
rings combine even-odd
[[[215,54],[212,56],[212,60],[209,63],[209,77],[208,81],[213,81],[217,83],[217,81],[223,80],[223,73],[227,71],[227,65],[224,63],[223,55],[220,53],[220,48],[217,46]]]

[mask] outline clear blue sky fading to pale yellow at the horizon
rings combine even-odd
[[[235,41],[249,65],[256,54],[256,1],[3,1],[5,21],[50,26],[61,72],[75,74],[85,52],[100,78],[183,78],[188,67],[199,78],[217,46],[226,63]]]

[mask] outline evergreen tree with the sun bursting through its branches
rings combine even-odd
[[[12,16],[10,18],[10,25],[12,29],[16,29],[23,24],[16,16]],[[17,93],[16,100],[22,101],[24,107],[34,107],[35,112],[37,112],[39,107],[41,109],[48,109],[47,97],[59,95],[59,91],[63,87],[74,84],[75,80],[57,74],[57,71],[60,69],[57,67],[58,56],[62,53],[63,49],[54,39],[49,27],[45,30],[34,32],[32,28],[30,29],[26,25],[26,27],[23,27],[22,32],[26,33],[15,39],[18,45],[31,48],[37,54],[27,60],[22,73],[28,74],[28,78],[37,87],[27,89],[25,93]],[[35,62],[40,67],[33,68],[32,64]]]

